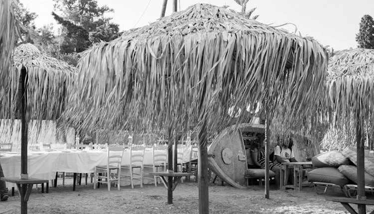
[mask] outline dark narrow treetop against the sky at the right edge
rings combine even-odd
[[[374,49],[374,20],[370,15],[364,15],[360,22],[360,31],[356,34],[359,48]]]

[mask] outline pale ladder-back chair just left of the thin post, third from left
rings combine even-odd
[[[164,152],[155,152],[155,150],[162,150]],[[152,147],[152,164],[144,164],[144,168],[152,168],[153,172],[166,172],[167,171],[167,150],[166,147]],[[166,188],[168,186],[165,184],[164,180],[160,176],[152,176],[148,173],[144,173],[143,179],[154,180],[155,186],[157,187],[157,180],[159,179]]]

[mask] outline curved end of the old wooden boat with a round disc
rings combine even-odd
[[[247,157],[243,133],[264,132],[263,124],[241,123],[227,127],[208,147],[209,168],[227,184],[246,188]]]

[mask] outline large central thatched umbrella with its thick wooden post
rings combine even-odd
[[[276,106],[287,116],[309,113],[327,55],[312,38],[195,4],[94,45],[79,69],[76,106],[67,112],[78,123],[79,107],[89,106],[85,129],[197,127],[199,211],[208,213],[206,133],[230,122],[231,106],[262,102],[268,115]]]

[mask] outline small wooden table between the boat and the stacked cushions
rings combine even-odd
[[[284,162],[281,164],[280,171],[280,189],[292,188],[294,190],[301,190],[303,186],[303,169],[311,168],[312,162]],[[289,168],[294,168],[294,185],[287,185]],[[299,179],[298,179],[299,178]]]

